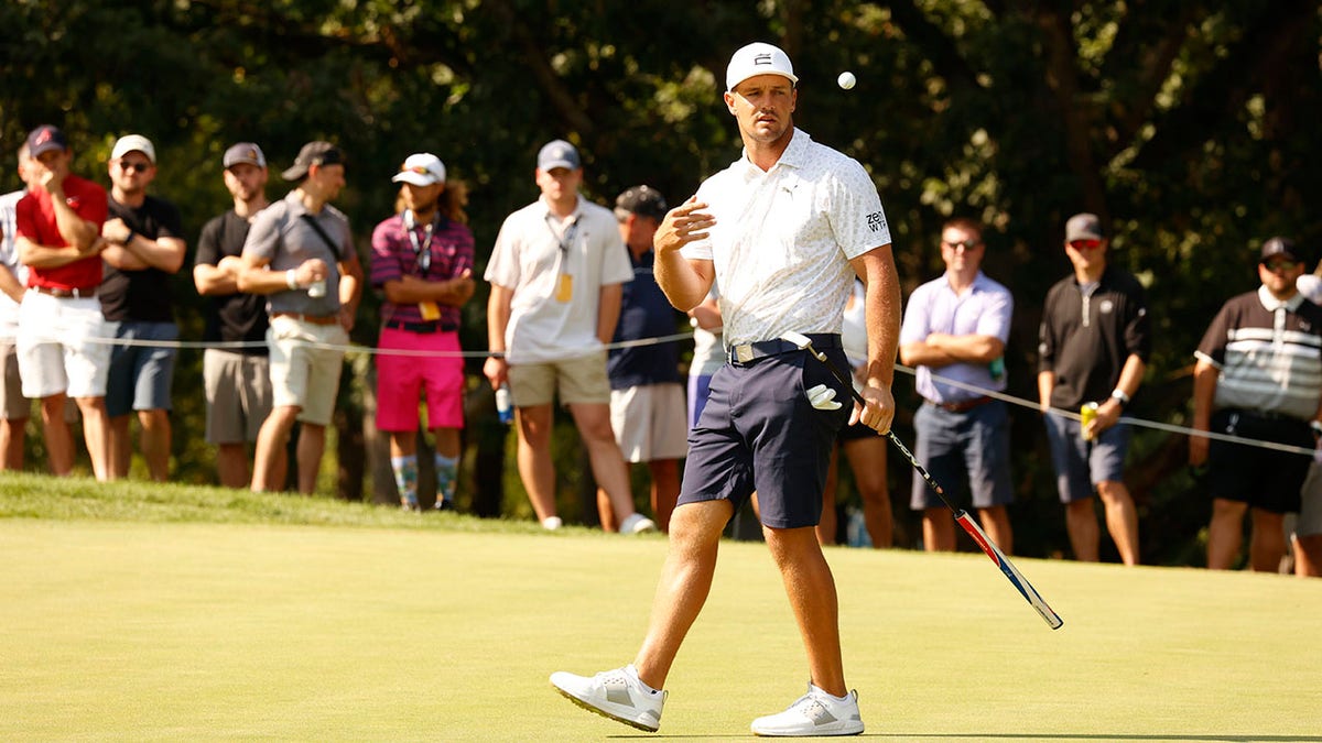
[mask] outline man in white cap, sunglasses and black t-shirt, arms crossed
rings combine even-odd
[[[156,180],[156,148],[145,136],[119,137],[110,152],[110,218],[100,235],[110,245],[100,256],[106,276],[100,308],[115,324],[106,387],[110,416],[110,471],[127,477],[132,456],[128,415],[137,411],[143,459],[152,480],[169,479],[171,387],[178,341],[171,276],[184,266],[188,245],[178,209],[147,193]]]

